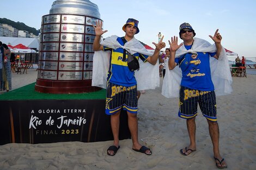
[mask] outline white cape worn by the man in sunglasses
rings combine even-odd
[[[187,50],[182,45],[176,51],[175,58],[190,52],[216,52],[216,46],[211,45],[208,41],[195,38],[191,49]],[[167,65],[168,68],[168,65]],[[228,95],[233,90],[231,84],[233,82],[230,74],[228,58],[224,47],[221,49],[221,54],[218,60],[210,57],[211,79],[214,83],[216,96]],[[166,69],[166,75],[163,79],[162,95],[167,98],[179,97],[179,89],[181,83],[182,72],[177,65],[173,70]]]

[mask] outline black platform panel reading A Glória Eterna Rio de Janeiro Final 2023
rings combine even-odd
[[[2,100],[0,107],[0,144],[113,140],[105,99]],[[130,138],[125,112],[119,137]]]

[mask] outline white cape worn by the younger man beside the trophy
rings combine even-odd
[[[117,41],[118,36],[113,35],[107,37],[101,42],[101,45],[117,49],[124,48],[131,54],[141,53],[152,56],[153,53],[148,52],[147,49],[133,37],[132,40],[121,46]],[[109,59],[111,52],[96,51],[93,56],[93,78],[92,86],[102,87],[106,89],[107,74],[109,68]],[[160,86],[159,78],[159,62],[156,65],[151,65],[149,62],[139,60],[139,71],[135,71],[135,78],[137,80],[137,90],[155,89]]]

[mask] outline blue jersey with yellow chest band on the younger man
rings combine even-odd
[[[123,40],[125,40],[123,38]],[[117,41],[120,43],[120,45],[124,45],[124,42],[121,39],[121,37],[118,37]],[[126,41],[127,42],[127,41]],[[103,51],[111,51],[111,58],[109,60],[109,70],[108,70],[108,77],[107,81],[122,85],[122,86],[133,86],[137,84],[137,81],[134,76],[134,71],[130,71],[127,65],[127,53],[126,59],[123,59],[124,55],[124,49],[123,48],[117,48],[112,49],[108,48],[106,46],[103,46]],[[140,53],[133,54],[136,56],[137,59],[141,58],[143,62],[147,61],[148,55],[143,55]]]

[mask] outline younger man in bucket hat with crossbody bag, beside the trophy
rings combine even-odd
[[[160,49],[165,47],[162,42],[153,44],[156,46],[154,54],[149,53],[144,46],[135,39],[135,34],[139,33],[138,21],[129,18],[123,26],[125,32],[124,37],[111,36],[107,37],[100,43],[100,38],[107,30],[102,30],[102,22],[96,22],[95,39],[93,49],[97,51],[110,51],[110,64],[107,77],[107,97],[106,97],[106,114],[111,115],[111,128],[114,137],[113,146],[107,149],[107,154],[114,156],[119,146],[119,116],[123,108],[127,111],[128,125],[132,138],[132,149],[146,155],[151,155],[151,150],[142,146],[138,142],[138,121],[137,121],[137,80],[135,72],[130,70],[128,60],[131,55],[136,60],[140,58],[143,62],[148,61],[151,65],[155,65],[159,57]],[[94,54],[95,56],[95,54]],[[94,57],[95,59],[95,57]],[[137,70],[137,68],[136,68]],[[141,72],[142,70],[139,70]],[[94,74],[93,74],[94,76]],[[159,76],[158,76],[159,77]],[[93,78],[94,81],[94,78]],[[93,83],[92,83],[93,84]]]

